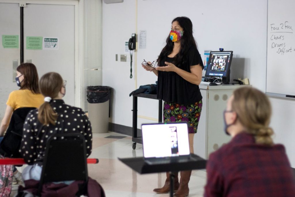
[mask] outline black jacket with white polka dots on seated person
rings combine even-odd
[[[19,150],[24,160],[30,165],[42,166],[48,137],[62,132],[84,135],[88,157],[92,151],[92,129],[87,115],[80,108],[66,105],[63,100],[51,100],[50,105],[59,115],[56,125],[42,125],[38,121],[37,109],[26,117]]]

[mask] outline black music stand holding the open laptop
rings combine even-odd
[[[178,163],[178,158],[173,158],[173,162],[165,164],[149,165],[145,162],[143,157],[133,158],[118,158],[121,162],[129,166],[132,170],[140,174],[149,174],[156,172],[170,172],[170,196],[173,197],[173,183],[174,174],[172,172],[178,172],[183,170],[197,170],[206,168],[206,160],[199,157],[196,154],[190,154],[191,157],[195,158],[196,161],[181,162]],[[176,160],[176,162],[175,162]]]

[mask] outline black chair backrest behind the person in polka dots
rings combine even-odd
[[[47,140],[38,193],[43,183],[88,180],[86,144],[81,133],[61,133]]]

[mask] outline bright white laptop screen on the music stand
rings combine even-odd
[[[141,129],[145,158],[190,154],[186,123],[142,124]]]

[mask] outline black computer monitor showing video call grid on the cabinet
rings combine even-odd
[[[230,82],[232,51],[211,51],[205,76],[222,77],[222,83]]]

